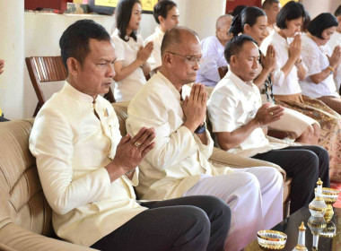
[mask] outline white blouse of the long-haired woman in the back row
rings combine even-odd
[[[138,50],[144,45],[144,39],[140,34],[136,35],[137,40],[129,38],[125,40],[118,37],[118,29],[111,35],[111,39],[115,45],[115,55],[117,61],[122,61],[122,67],[132,64],[137,58]],[[117,102],[129,101],[134,98],[146,82],[144,71],[138,67],[133,73],[119,82],[115,82],[114,97]]]

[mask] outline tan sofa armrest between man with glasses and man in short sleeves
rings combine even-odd
[[[243,157],[238,154],[234,154],[228,151],[223,151],[219,148],[214,147],[214,151],[209,159],[209,161],[214,164],[214,166],[229,166],[232,168],[250,168],[250,167],[272,167],[277,169],[285,180],[286,173],[284,169],[280,166],[265,161],[265,160],[256,160],[249,157]]]

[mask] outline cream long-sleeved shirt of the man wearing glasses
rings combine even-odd
[[[190,88],[183,86],[182,98]],[[137,134],[141,126],[155,128],[155,147],[140,163],[137,195],[142,199],[181,197],[194,186],[201,175],[215,176],[232,171],[214,168],[208,162],[214,143],[206,131],[208,143],[201,143],[183,125],[185,116],[180,106],[180,93],[160,72],[144,85],[131,100],[126,120],[127,132]]]

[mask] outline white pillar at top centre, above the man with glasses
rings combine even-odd
[[[179,24],[197,31],[199,39],[215,34],[215,22],[225,13],[226,0],[173,0],[179,8]]]

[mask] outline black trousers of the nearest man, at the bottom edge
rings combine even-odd
[[[181,197],[144,203],[149,209],[101,238],[100,250],[223,250],[231,210],[214,196]]]

